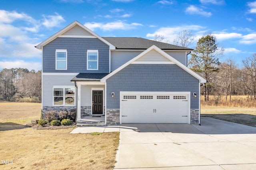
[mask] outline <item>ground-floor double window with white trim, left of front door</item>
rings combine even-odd
[[[53,88],[53,105],[54,106],[74,106],[75,105],[75,88]]]

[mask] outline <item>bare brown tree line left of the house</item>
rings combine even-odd
[[[0,100],[30,98],[33,102],[41,102],[41,86],[41,71],[26,68],[4,68],[0,71]]]

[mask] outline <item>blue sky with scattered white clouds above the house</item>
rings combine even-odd
[[[239,66],[256,53],[256,0],[0,0],[0,70],[41,70],[34,46],[75,20],[102,37],[211,32]]]

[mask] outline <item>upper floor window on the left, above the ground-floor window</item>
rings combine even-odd
[[[56,49],[56,70],[67,70],[66,49]]]

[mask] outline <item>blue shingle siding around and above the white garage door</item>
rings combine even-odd
[[[190,108],[199,108],[199,98],[193,96],[199,94],[199,80],[176,64],[130,64],[106,82],[107,109],[119,109],[120,91],[191,92]]]

